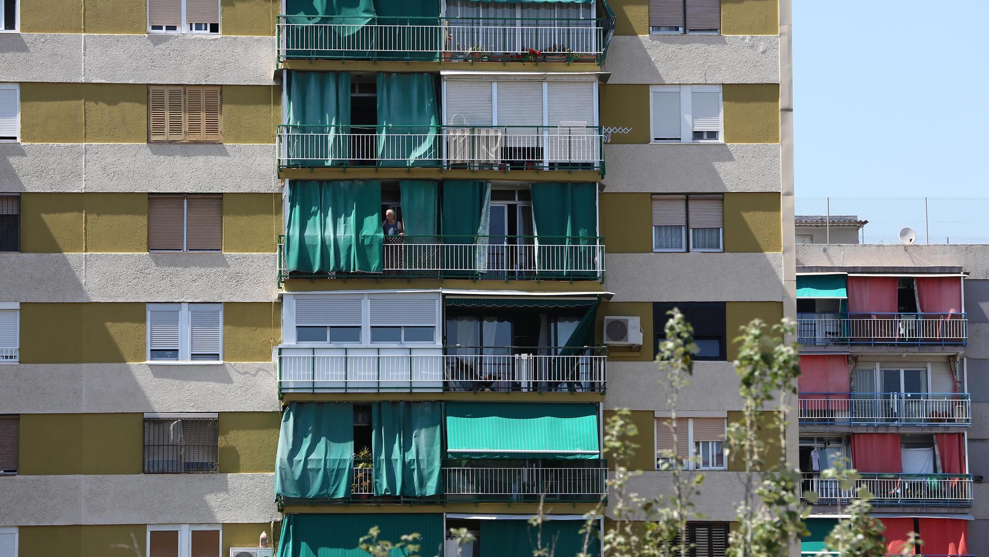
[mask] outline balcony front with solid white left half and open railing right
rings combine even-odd
[[[603,349],[278,349],[279,392],[604,392]],[[577,356],[539,353],[581,351]],[[508,354],[465,354],[481,352]],[[416,354],[418,353],[418,354]],[[523,354],[528,353],[528,354]]]

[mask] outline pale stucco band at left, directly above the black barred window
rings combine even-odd
[[[189,365],[21,363],[3,368],[0,408],[49,412],[278,412],[267,362]]]

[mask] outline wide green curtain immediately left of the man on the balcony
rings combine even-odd
[[[381,183],[293,180],[285,251],[289,271],[381,273]]]

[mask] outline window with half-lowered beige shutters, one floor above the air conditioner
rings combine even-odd
[[[653,196],[653,251],[724,251],[723,206],[721,195]]]

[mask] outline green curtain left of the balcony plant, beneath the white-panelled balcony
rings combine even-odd
[[[275,495],[343,499],[354,467],[354,408],[343,402],[291,403],[282,415]]]

